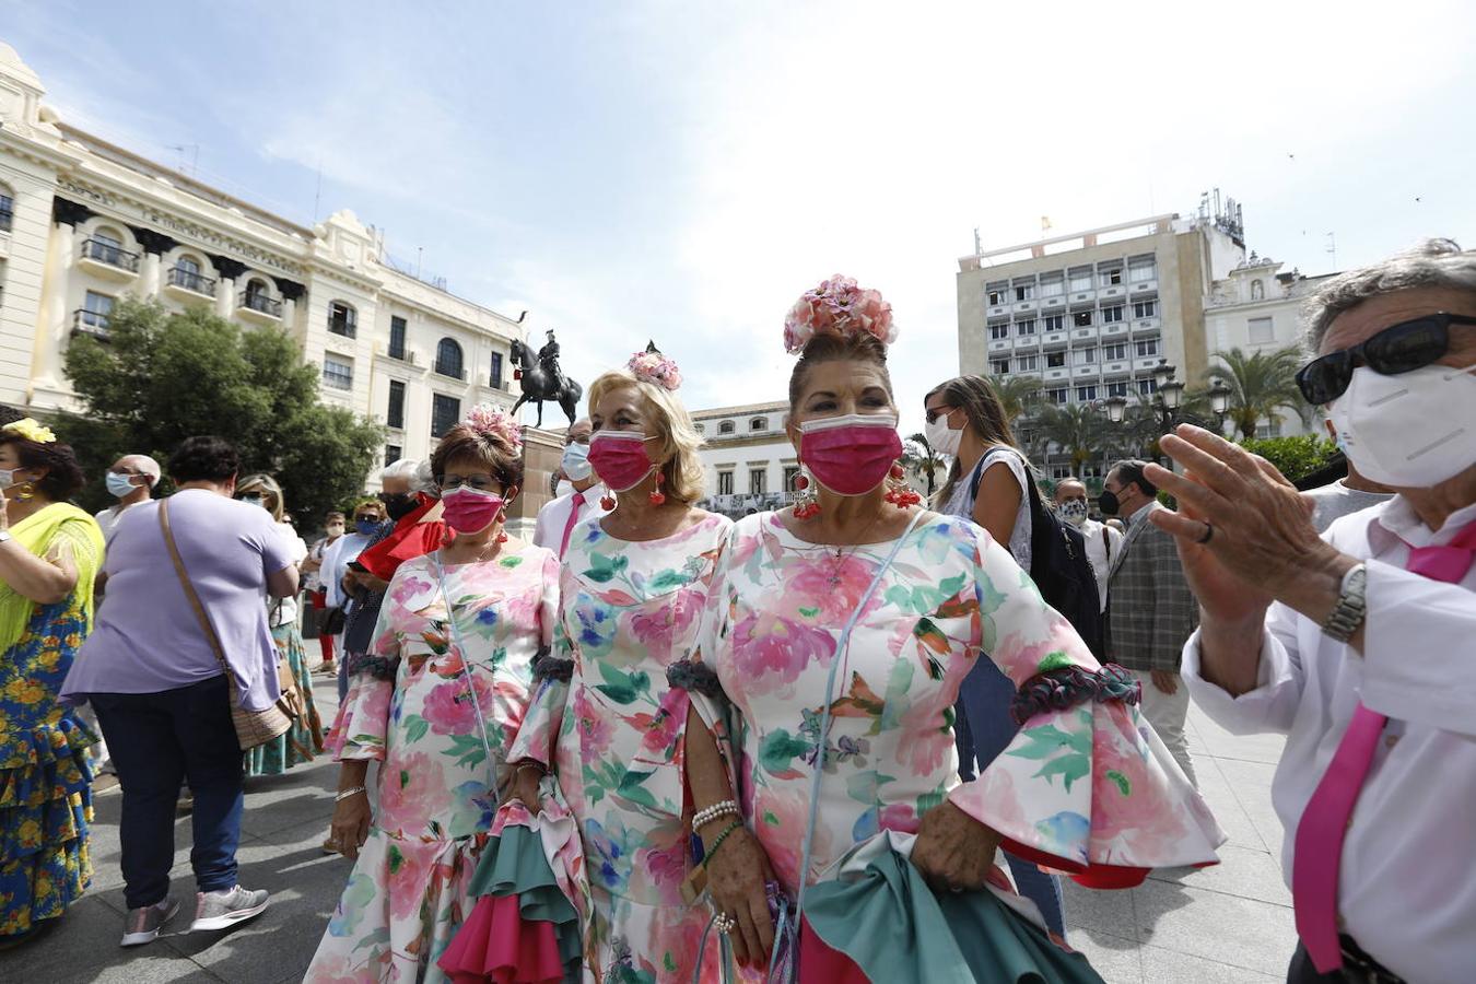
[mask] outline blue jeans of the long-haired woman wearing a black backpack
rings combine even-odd
[[[953,705],[958,716],[953,736],[958,745],[958,772],[965,782],[974,777],[976,761],[979,770],[983,770],[1010,746],[1010,741],[1020,730],[1010,717],[1010,702],[1014,701],[1014,683],[987,656],[982,655],[964,677],[958,704]],[[1045,925],[1052,932],[1064,937],[1066,913],[1061,906],[1060,879],[1046,875],[1032,862],[1008,851],[1001,853],[1010,862],[1010,873],[1014,875],[1020,894],[1039,906]]]

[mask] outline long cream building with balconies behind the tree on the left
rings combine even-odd
[[[385,425],[385,460],[428,456],[477,403],[512,406],[521,319],[396,270],[353,212],[295,224],[68,125],[43,94],[0,44],[0,403],[77,410],[66,345],[106,338],[131,297],[286,332],[325,403]]]

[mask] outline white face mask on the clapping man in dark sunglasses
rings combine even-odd
[[[1476,366],[1421,366],[1398,376],[1359,366],[1330,416],[1358,474],[1429,488],[1476,463]]]

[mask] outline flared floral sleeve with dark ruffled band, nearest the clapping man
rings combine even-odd
[[[976,534],[982,651],[1014,682],[1010,746],[949,800],[1011,853],[1098,888],[1151,867],[1210,865],[1225,835],[1138,713],[1120,668],[1103,667],[1010,553]]]

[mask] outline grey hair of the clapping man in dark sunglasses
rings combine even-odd
[[[1349,270],[1324,283],[1303,308],[1303,342],[1315,357],[1333,320],[1364,301],[1415,288],[1449,288],[1476,294],[1476,251],[1454,239],[1426,239],[1361,270]]]

